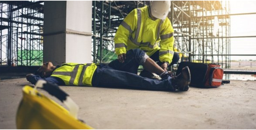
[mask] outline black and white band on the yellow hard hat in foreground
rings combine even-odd
[[[36,82],[33,93],[35,93],[36,88],[42,88],[52,96],[59,99],[63,104],[68,107],[69,114],[77,119],[77,113],[79,110],[78,105],[69,97],[66,92],[61,90],[58,85],[46,82],[45,80],[38,80]]]

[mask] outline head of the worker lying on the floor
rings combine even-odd
[[[35,72],[35,75],[39,75],[42,78],[50,77],[53,68],[55,68],[55,66],[52,65],[52,62],[46,62]]]

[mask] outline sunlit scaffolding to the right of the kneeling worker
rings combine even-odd
[[[171,9],[175,44],[190,52],[181,60],[230,68],[229,1],[174,1]]]

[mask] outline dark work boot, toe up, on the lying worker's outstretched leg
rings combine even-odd
[[[190,84],[190,71],[188,66],[182,68],[181,73],[178,76],[172,77],[172,86],[176,90],[188,91]]]

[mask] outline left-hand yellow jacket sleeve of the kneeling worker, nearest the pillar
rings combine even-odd
[[[125,18],[124,21],[119,25],[115,41],[115,51],[117,55],[126,53],[127,41],[132,32],[136,28],[137,23],[137,11],[136,9],[132,10]]]

